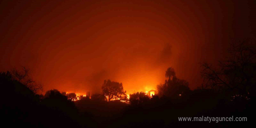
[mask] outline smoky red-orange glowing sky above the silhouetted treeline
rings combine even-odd
[[[190,88],[199,62],[255,37],[255,1],[1,1],[0,70],[29,67],[44,90],[155,89],[173,67]]]

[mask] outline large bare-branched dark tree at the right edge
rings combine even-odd
[[[256,44],[255,40],[232,41],[228,56],[218,67],[201,63],[203,86],[233,94],[255,95]]]

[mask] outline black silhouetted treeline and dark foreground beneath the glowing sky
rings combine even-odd
[[[255,120],[255,41],[230,44],[229,55],[214,67],[202,63],[204,82],[191,90],[169,67],[156,95],[129,95],[122,83],[104,81],[102,94],[77,96],[48,90],[15,72],[1,72],[3,125],[8,127],[246,127]],[[24,68],[26,71],[26,68]],[[18,76],[18,77],[17,77]],[[24,75],[25,76],[25,75]],[[19,79],[20,78],[20,79]],[[29,79],[32,81],[31,79]],[[179,121],[178,117],[246,117],[246,122]]]

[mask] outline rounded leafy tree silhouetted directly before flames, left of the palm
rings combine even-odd
[[[105,97],[107,97],[107,100],[110,101],[114,97],[120,98],[122,95],[125,95],[126,91],[124,91],[122,83],[104,80],[102,85],[102,93]]]

